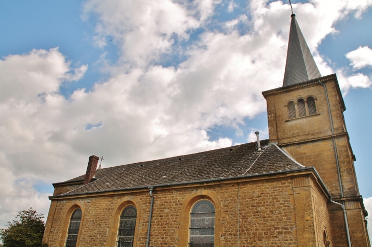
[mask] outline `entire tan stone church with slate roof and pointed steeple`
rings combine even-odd
[[[291,15],[283,86],[263,91],[269,139],[97,169],[54,183],[57,246],[370,246],[335,74]],[[78,165],[78,164],[76,164]]]

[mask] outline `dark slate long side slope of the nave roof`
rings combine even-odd
[[[99,169],[96,180],[66,194],[161,186],[302,167],[278,146],[268,145],[268,142],[261,141],[262,151],[257,150],[256,142],[251,142],[191,155]],[[84,180],[84,176],[66,182]]]

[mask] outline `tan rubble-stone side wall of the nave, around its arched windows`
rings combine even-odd
[[[240,246],[298,246],[293,184],[288,177],[277,179],[155,188],[150,246],[187,246],[190,208],[199,199],[215,204],[215,246],[237,246],[238,241]],[[327,225],[324,201],[315,197],[315,204],[319,204],[317,224]],[[134,246],[145,246],[150,207],[147,190],[52,201],[43,241],[50,247],[64,246],[69,217],[74,208],[81,207],[78,246],[116,246],[118,218],[123,208],[120,205],[128,201],[138,210]]]

